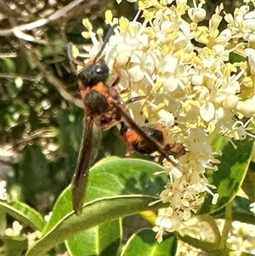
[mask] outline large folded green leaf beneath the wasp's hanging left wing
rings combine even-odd
[[[155,162],[140,159],[109,157],[98,162],[90,170],[82,215],[74,214],[68,187],[59,196],[42,239],[27,256],[43,255],[59,242],[105,221],[162,207],[159,203],[148,206],[158,199],[155,196],[165,184],[160,176],[154,175],[162,170]]]

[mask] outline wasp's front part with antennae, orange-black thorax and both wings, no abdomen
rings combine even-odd
[[[128,128],[138,134],[139,143],[142,141],[143,145],[159,151],[161,156],[164,156],[174,167],[177,167],[177,164],[169,157],[165,145],[161,144],[161,140],[155,136],[150,136],[150,133],[146,133],[146,130],[139,127],[127,113],[127,104],[122,104],[120,94],[114,88],[120,80],[120,75],[117,75],[116,81],[111,87],[106,84],[110,70],[101,54],[115,28],[116,26],[112,26],[108,31],[99,54],[88,65],[84,65],[82,61],[72,56],[71,43],[68,48],[70,60],[74,64],[83,65],[82,71],[77,74],[77,82],[85,108],[84,128],[77,169],[71,182],[72,204],[77,215],[82,213],[83,198],[88,183],[88,169],[93,164],[92,159],[94,157],[91,149],[93,147],[94,124],[102,130],[108,130],[119,122],[125,123]],[[129,100],[129,102],[133,102],[133,100]],[[134,145],[133,147],[138,150]]]

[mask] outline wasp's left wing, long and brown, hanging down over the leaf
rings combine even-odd
[[[79,151],[77,169],[71,181],[72,186],[72,206],[77,215],[82,214],[82,205],[88,185],[89,168],[99,151],[100,134],[94,131],[94,118],[84,117],[84,128],[82,134],[82,144]]]

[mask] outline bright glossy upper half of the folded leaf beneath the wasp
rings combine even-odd
[[[163,168],[155,162],[140,159],[107,157],[97,162],[90,169],[85,202],[106,196],[118,195],[150,195],[161,192],[164,181],[155,176],[156,171]],[[44,233],[51,230],[66,214],[72,213],[71,191],[64,191],[55,203],[52,217]],[[83,213],[86,209],[83,210]]]

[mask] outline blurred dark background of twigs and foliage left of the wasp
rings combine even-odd
[[[77,106],[82,102],[67,58],[67,43],[90,43],[81,35],[86,17],[95,29],[102,26],[107,31],[105,9],[116,9],[116,15],[128,14],[130,19],[135,14],[132,3],[123,2],[117,9],[114,1],[83,1],[64,16],[23,31],[21,36],[10,30],[55,14],[69,3],[0,3],[0,179],[7,180],[13,200],[41,213],[48,213],[70,184],[82,138],[84,113]],[[103,134],[99,158],[105,154],[124,156],[116,128]]]

